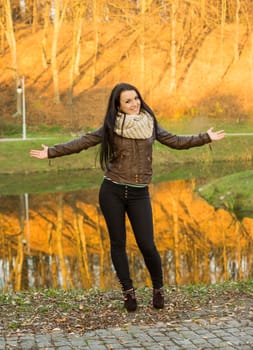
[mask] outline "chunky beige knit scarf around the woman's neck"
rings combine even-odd
[[[119,112],[116,117],[114,131],[117,135],[129,139],[148,139],[154,129],[153,117],[146,111],[140,114]]]

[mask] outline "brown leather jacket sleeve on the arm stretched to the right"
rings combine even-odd
[[[165,129],[157,126],[156,140],[160,143],[175,149],[189,149],[192,147],[203,146],[212,142],[208,133],[192,136],[178,136],[172,134]]]

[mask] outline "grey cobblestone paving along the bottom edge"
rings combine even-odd
[[[173,325],[0,337],[1,350],[253,350],[252,320],[185,321]]]

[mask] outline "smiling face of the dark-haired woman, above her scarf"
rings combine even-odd
[[[119,109],[126,114],[139,114],[141,100],[135,90],[125,90],[120,94]]]

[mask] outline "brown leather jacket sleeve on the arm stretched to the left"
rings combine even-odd
[[[79,153],[82,150],[98,145],[101,142],[102,129],[103,127],[100,127],[99,129],[88,132],[79,139],[49,147],[48,158],[56,158],[72,153]]]

